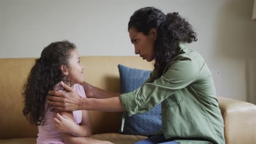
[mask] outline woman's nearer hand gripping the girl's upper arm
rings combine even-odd
[[[71,87],[65,83],[60,83],[66,92],[49,91],[51,96],[47,98],[48,103],[53,105],[51,108],[60,111],[77,111],[82,109],[82,97],[75,93]]]

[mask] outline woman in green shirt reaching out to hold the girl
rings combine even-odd
[[[57,110],[125,111],[128,116],[161,103],[162,130],[137,143],[225,143],[211,71],[199,53],[183,45],[197,40],[191,25],[178,13],[146,7],[131,16],[128,31],[135,53],[155,60],[141,88],[120,95],[84,82],[90,99],[63,86],[69,93],[51,91],[59,97],[49,97],[49,103]]]

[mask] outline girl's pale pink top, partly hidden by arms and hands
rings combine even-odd
[[[86,97],[83,86],[75,84],[72,88],[75,92],[79,93],[81,97]],[[63,88],[59,84],[56,84],[53,89],[55,91],[63,91]],[[48,104],[45,104],[45,111],[44,117],[46,122],[44,125],[38,126],[37,144],[64,144],[61,133],[56,130],[54,125],[56,112],[50,111],[48,109]],[[73,116],[75,123],[79,124],[82,122],[82,111],[73,111]]]

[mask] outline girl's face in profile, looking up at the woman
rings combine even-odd
[[[84,66],[80,62],[80,56],[76,49],[71,51],[71,57],[68,59],[68,78],[71,84],[83,83],[84,81]]]

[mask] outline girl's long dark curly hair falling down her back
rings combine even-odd
[[[68,59],[74,49],[76,46],[69,41],[57,41],[46,46],[40,58],[35,60],[22,93],[24,98],[22,112],[31,124],[45,123],[46,96],[57,82],[65,78],[60,67],[61,65],[68,67]]]

